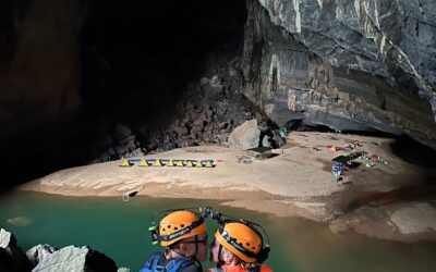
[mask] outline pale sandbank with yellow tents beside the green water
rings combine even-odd
[[[398,226],[391,227],[389,224],[393,223],[388,215],[382,217],[387,223],[379,226],[380,218],[374,222],[368,220],[371,212],[365,212],[364,208],[349,214],[341,207],[356,191],[389,191],[414,185],[414,178],[404,177],[413,176],[419,169],[390,152],[388,147],[392,139],[307,132],[291,133],[287,140],[284,147],[272,150],[274,158],[263,161],[253,159],[250,164],[237,162],[239,157],[246,154],[245,151],[199,146],[143,158],[213,159],[215,168],[120,168],[121,161],[112,161],[62,170],[27,183],[21,189],[68,196],[120,196],[120,200],[122,194],[130,190],[152,197],[222,199],[233,207],[327,222],[334,231],[354,228],[380,238],[422,239],[422,236],[410,235],[413,233],[410,230],[401,233],[401,221],[396,222]],[[326,148],[316,151],[313,147],[343,147],[347,140],[360,140],[363,144],[361,149],[370,154],[377,153],[389,164],[377,164],[373,169],[362,164],[347,172],[343,182],[334,182],[330,160],[348,151],[334,152]],[[360,159],[356,161],[363,162]],[[389,214],[385,207],[377,212]],[[361,227],[362,221],[367,223],[367,227]],[[379,230],[376,235],[371,230],[374,227]],[[416,227],[428,230],[425,225]],[[384,235],[385,232],[388,234]],[[424,238],[435,237],[435,232],[429,232]]]

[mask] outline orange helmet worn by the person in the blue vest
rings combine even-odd
[[[206,232],[203,217],[192,211],[180,210],[167,214],[159,223],[157,239],[168,247],[178,240]]]

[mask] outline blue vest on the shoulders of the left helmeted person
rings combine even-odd
[[[191,258],[166,259],[162,252],[156,252],[145,262],[140,272],[178,272],[183,268],[197,265]]]

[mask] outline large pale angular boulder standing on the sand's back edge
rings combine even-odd
[[[229,135],[229,147],[238,149],[256,148],[259,144],[261,131],[257,127],[257,121],[245,121],[242,125],[231,132]]]

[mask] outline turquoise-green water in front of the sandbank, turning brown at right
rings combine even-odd
[[[146,257],[159,249],[150,245],[147,232],[154,211],[205,205],[261,223],[270,234],[272,251],[267,263],[275,271],[435,271],[436,268],[435,243],[405,245],[353,233],[332,234],[325,225],[306,220],[277,218],[202,200],[136,197],[123,202],[121,198],[23,191],[1,197],[0,226],[13,232],[24,250],[37,244],[88,245],[112,258],[119,267],[137,271]],[[211,224],[210,231],[213,227]]]

